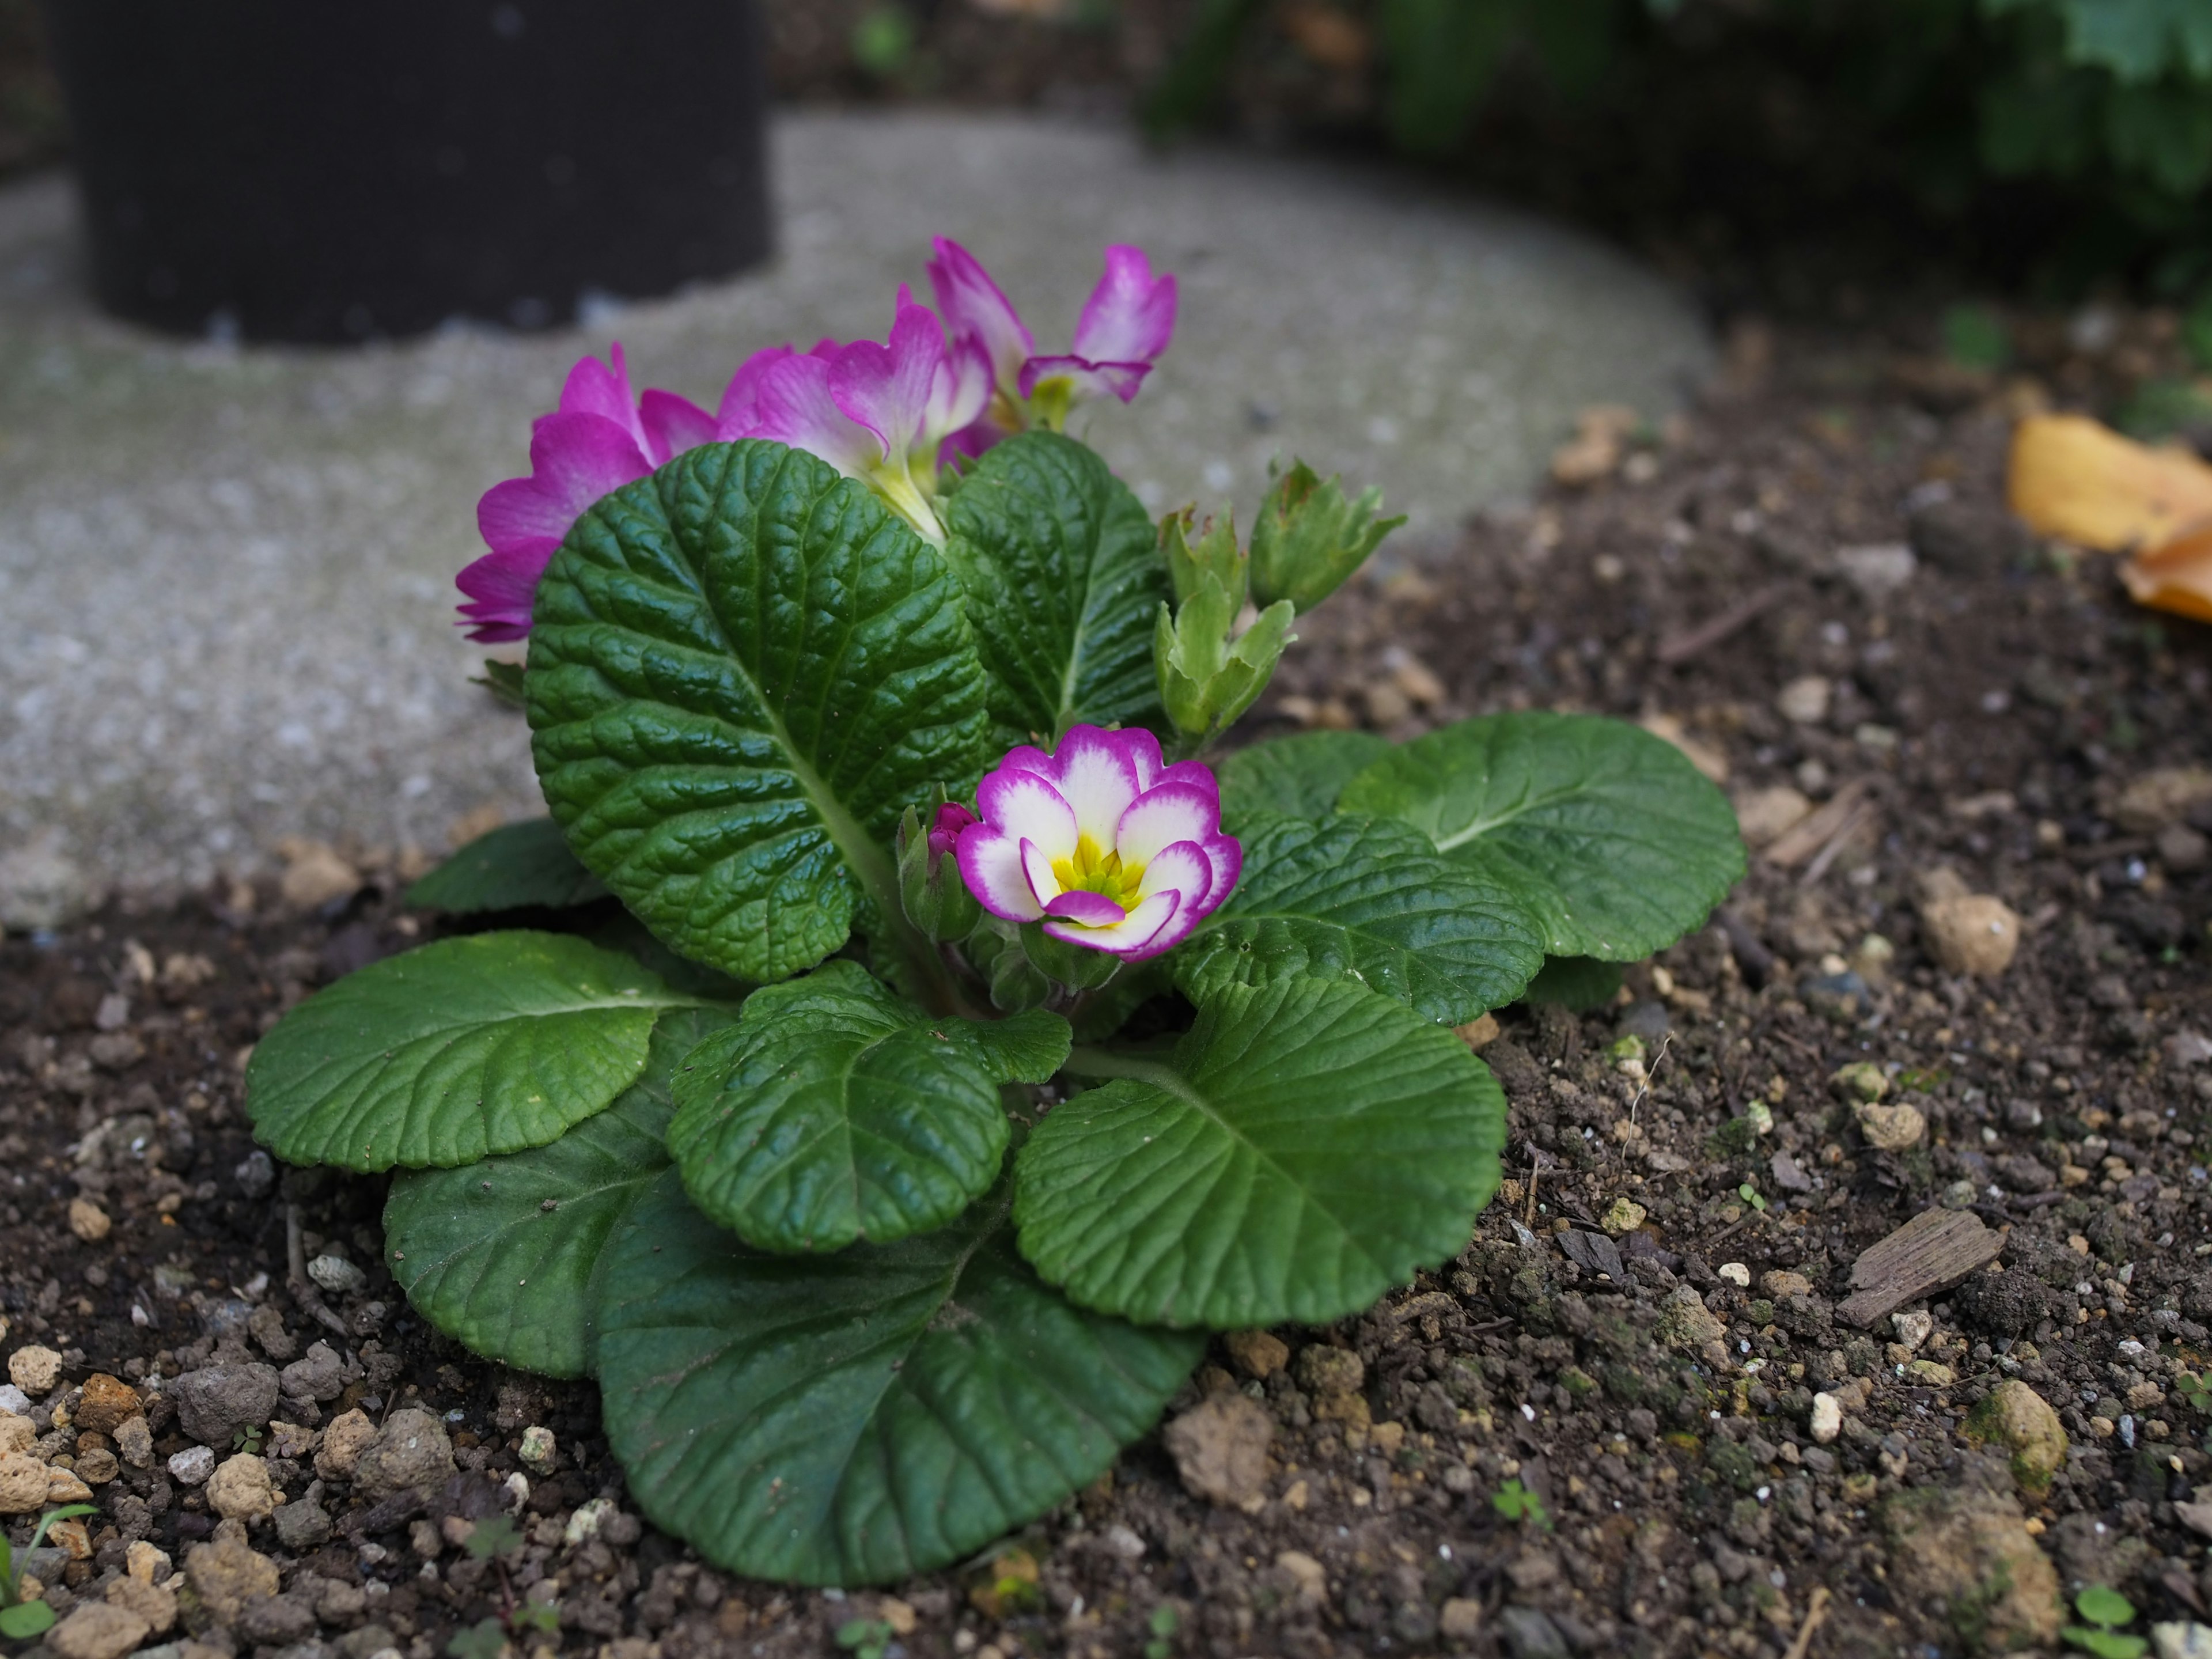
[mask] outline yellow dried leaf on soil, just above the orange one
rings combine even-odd
[[[2157,549],[2212,524],[2212,467],[2183,449],[2121,438],[2086,416],[2022,420],[2006,491],[2037,535],[2104,553]]]

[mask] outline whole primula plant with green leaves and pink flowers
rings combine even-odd
[[[1279,471],[1250,544],[1068,434],[1175,279],[1113,248],[1040,354],[936,310],[774,347],[714,414],[568,376],[460,575],[551,818],[414,900],[467,931],[296,1006],[259,1137],[392,1170],[389,1267],[478,1354],[599,1380],[635,1502],[759,1577],[962,1559],[1146,1433],[1206,1332],[1458,1254],[1504,1099],[1453,1026],[1641,958],[1739,876],[1672,748],[1495,714],[1210,761],[1391,529]]]

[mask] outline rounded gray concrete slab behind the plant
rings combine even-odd
[[[1272,453],[1378,482],[1442,544],[1526,491],[1586,403],[1672,407],[1708,341],[1575,234],[1389,175],[1186,153],[1024,117],[792,113],[774,265],[566,334],[361,352],[153,338],[77,283],[64,179],[0,190],[0,878],[128,889],[252,872],[281,836],[438,849],[535,805],[524,732],[451,624],[473,507],[526,471],[566,365],[708,405],[745,352],[880,334],[931,232],[998,272],[1044,349],[1106,241],[1183,281],[1172,352],[1091,440],[1155,509]]]

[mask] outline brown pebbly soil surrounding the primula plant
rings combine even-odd
[[[1250,1506],[1194,1498],[1146,1440],[1009,1540],[1035,1590],[1000,1593],[1009,1568],[984,1559],[896,1604],[739,1582],[630,1515],[564,1544],[582,1502],[622,1502],[593,1389],[500,1374],[414,1318],[376,1265],[378,1181],[272,1188],[252,1159],[243,1048],[312,987],[434,927],[369,858],[369,887],[316,914],[223,889],[0,945],[0,1347],[62,1349],[66,1405],[95,1371],[144,1380],[327,1340],[345,1391],[303,1416],[447,1413],[462,1473],[420,1515],[312,1489],[299,1444],[276,1455],[276,1484],[336,1533],[301,1551],[252,1533],[296,1606],[323,1613],[254,1626],[281,1641],[201,1630],[261,1659],[431,1659],[493,1613],[489,1568],[420,1522],[484,1513],[529,1425],[553,1429],[560,1464],[533,1480],[511,1579],[557,1575],[562,1650],[617,1644],[608,1659],[825,1652],[876,1613],[911,1619],[907,1652],[984,1659],[1152,1641],[1223,1659],[1781,1655],[1823,1590],[1796,1655],[1949,1655],[2002,1632],[2013,1601],[1986,1575],[1931,1582],[1931,1559],[1955,1557],[1942,1540],[1973,1531],[1942,1522],[1944,1502],[2008,1540],[2015,1582],[2039,1551],[2068,1593],[2101,1582],[2154,1617],[2201,1617],[2212,1573],[2174,1502],[2212,1464],[2177,1387],[2212,1347],[2212,1044],[2194,1037],[2212,1031],[2212,876],[2185,816],[2161,832],[2119,796],[2203,761],[2212,633],[2132,611],[2104,560],[2011,526],[2017,392],[1913,361],[1885,372],[1865,336],[1772,356],[1741,336],[1734,378],[1601,482],[1343,595],[1263,708],[1263,728],[1400,734],[1509,706],[1672,717],[1739,794],[1863,810],[1796,836],[1794,863],[1754,858],[1728,911],[1632,969],[1624,1002],[1500,1015],[1484,1055],[1513,1104],[1513,1186],[1469,1252],[1365,1318],[1279,1332],[1287,1365],[1219,1343],[1170,1407],[1232,1389],[1263,1405]],[[1845,553],[1882,544],[1918,549],[1887,593],[1896,553]],[[1792,721],[1776,697],[1803,677],[1825,679],[1827,710]],[[1942,867],[2022,918],[2004,973],[1931,960],[1918,898]],[[1624,1033],[1646,1044],[1644,1084],[1615,1053]],[[1918,1108],[1918,1146],[1865,1141],[1832,1084],[1849,1062]],[[113,1219],[104,1239],[71,1230],[80,1197]],[[1599,1243],[1615,1199],[1648,1221]],[[367,1270],[327,1321],[285,1287],[288,1203],[303,1254]],[[1909,1305],[1933,1318],[1916,1352],[1889,1347],[1887,1318],[1840,1323],[1851,1263],[1931,1206],[2000,1230],[1997,1267]],[[254,1307],[276,1318],[243,1327]],[[2015,1498],[1966,1436],[2006,1378],[2070,1438],[2039,1498]],[[1820,1389],[1845,1400],[1832,1444],[1809,1433]],[[100,1595],[133,1537],[181,1562],[212,1531],[201,1489],[161,1469],[190,1442],[175,1420],[155,1440],[153,1469],[100,1489],[91,1557],[46,1557],[55,1601]],[[1548,1526],[1500,1513],[1511,1480]]]

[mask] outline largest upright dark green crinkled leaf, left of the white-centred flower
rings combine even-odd
[[[568,845],[741,980],[814,967],[865,902],[896,918],[900,810],[982,765],[960,582],[774,442],[701,445],[584,513],[538,584],[524,684]]]

